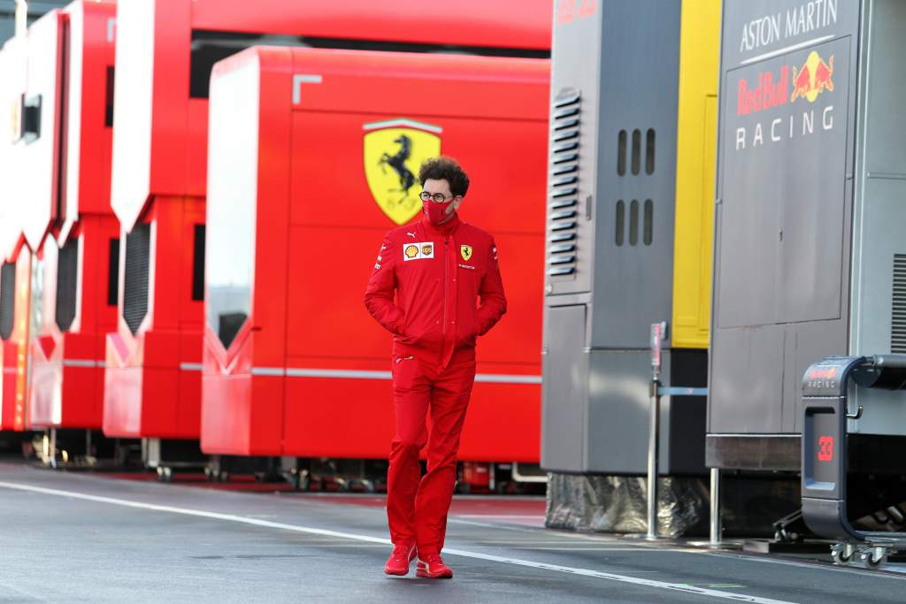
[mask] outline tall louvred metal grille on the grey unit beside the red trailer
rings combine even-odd
[[[551,108],[547,274],[575,273],[579,227],[579,119],[582,93],[564,89]]]

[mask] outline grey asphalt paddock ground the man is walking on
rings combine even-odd
[[[382,573],[381,497],[248,493],[0,464],[0,602],[903,602],[906,575],[540,526],[454,502],[453,580]]]

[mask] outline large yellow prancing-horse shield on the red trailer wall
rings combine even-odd
[[[365,124],[365,178],[371,196],[397,225],[409,222],[421,210],[419,166],[440,155],[438,126],[414,120],[387,120]]]

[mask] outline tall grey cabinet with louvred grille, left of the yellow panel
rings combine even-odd
[[[570,12],[569,8],[573,7]],[[680,2],[559,2],[545,252],[542,466],[643,475],[651,323],[670,321]],[[704,386],[705,353],[662,380]],[[704,401],[661,416],[664,474],[704,471]]]

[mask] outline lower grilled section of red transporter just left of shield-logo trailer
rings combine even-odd
[[[104,373],[108,436],[198,437],[204,219],[197,198],[161,197],[123,234],[119,331],[107,335]]]

